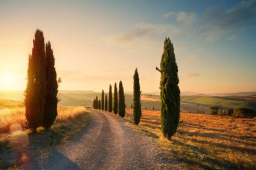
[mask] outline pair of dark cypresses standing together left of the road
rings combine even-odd
[[[27,126],[36,131],[39,126],[49,129],[57,117],[59,84],[51,43],[48,41],[44,44],[41,30],[36,30],[33,45],[32,55],[29,55],[24,103]]]

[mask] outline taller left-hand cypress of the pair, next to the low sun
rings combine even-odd
[[[25,91],[26,119],[29,128],[34,131],[43,125],[46,92],[46,58],[44,36],[36,30],[32,55],[29,55],[27,69],[27,88]]]

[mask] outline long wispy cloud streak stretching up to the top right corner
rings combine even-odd
[[[222,3],[225,2],[205,10],[201,17],[193,12],[168,12],[162,18],[174,18],[172,24],[139,22],[126,32],[108,36],[107,41],[142,49],[151,46],[152,49],[155,48],[152,39],[160,35],[171,38],[202,35],[206,41],[212,42],[230,31],[256,24],[256,0],[243,1],[230,9],[224,9]],[[232,41],[235,38],[229,36],[226,39]]]

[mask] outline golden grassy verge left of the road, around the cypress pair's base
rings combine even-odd
[[[49,130],[38,127],[37,133],[34,133],[24,124],[23,107],[10,108],[10,112],[7,110],[2,111],[12,118],[6,119],[5,125],[8,124],[0,128],[0,169],[16,169],[29,161],[40,163],[48,157],[51,149],[68,142],[91,120],[90,111],[84,107],[59,106],[54,125]]]

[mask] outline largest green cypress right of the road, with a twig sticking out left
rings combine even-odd
[[[171,140],[177,131],[180,118],[180,89],[178,67],[174,54],[173,44],[169,38],[165,38],[160,69],[160,106],[161,125],[163,135]]]

